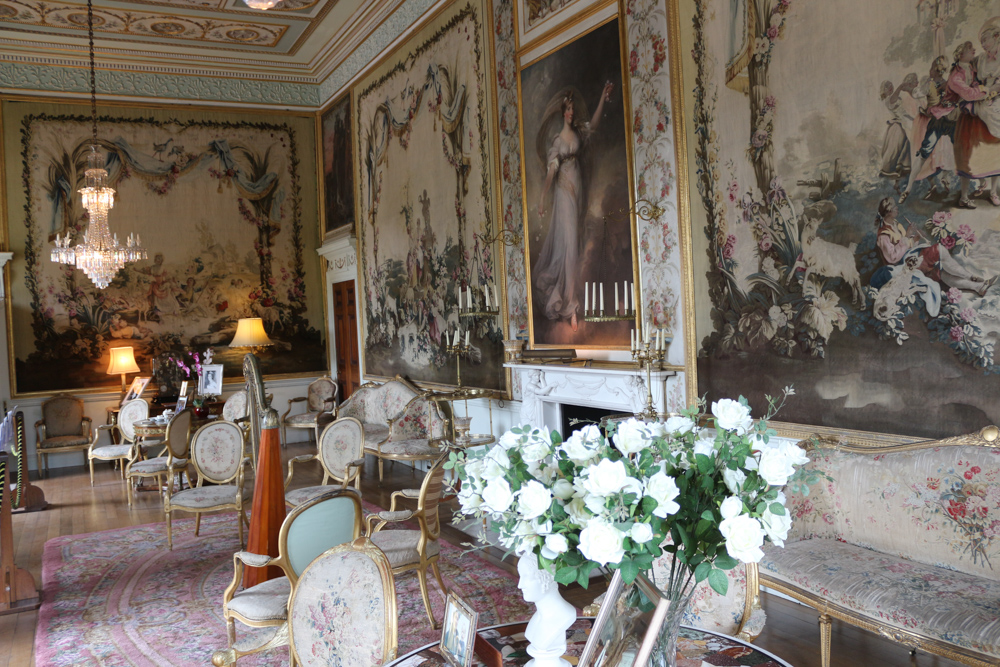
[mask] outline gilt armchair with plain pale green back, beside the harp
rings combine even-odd
[[[233,581],[222,597],[229,648],[216,651],[212,664],[231,665],[245,655],[286,646],[288,598],[295,582],[317,556],[360,535],[361,496],[353,489],[337,489],[311,498],[288,513],[278,533],[277,558],[246,551],[234,554]],[[285,576],[240,590],[245,566],[275,566]],[[271,630],[237,641],[236,621]]]

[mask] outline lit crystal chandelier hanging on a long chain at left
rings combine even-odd
[[[87,274],[98,289],[111,284],[115,274],[127,262],[146,259],[138,235],[129,235],[125,245],[118,243],[108,227],[108,211],[115,205],[115,191],[108,187],[108,171],[104,168],[104,155],[97,145],[97,82],[94,76],[94,6],[87,0],[87,33],[90,38],[90,116],[92,143],[87,155],[85,187],[80,189],[83,207],[87,209],[87,231],[83,242],[70,246],[69,234],[60,239],[52,249],[52,261],[75,265]]]

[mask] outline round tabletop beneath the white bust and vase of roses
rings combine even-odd
[[[593,618],[579,618],[566,631],[566,657],[572,664],[583,652],[593,626]],[[505,623],[479,630],[472,667],[508,667],[527,664],[524,638],[527,623]],[[390,662],[387,667],[438,667],[448,662],[438,652],[438,644],[428,644]],[[502,656],[502,657],[501,657]],[[677,667],[705,665],[754,665],[755,667],[792,667],[790,664],[753,644],[727,635],[681,627],[677,641]]]

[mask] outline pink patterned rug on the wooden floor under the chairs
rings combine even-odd
[[[375,509],[365,503],[366,510]],[[57,537],[42,557],[42,607],[35,631],[38,667],[168,667],[210,665],[226,647],[222,593],[239,548],[232,514],[174,521],[167,551],[163,522]],[[442,540],[445,584],[479,611],[481,625],[527,620],[517,578]],[[429,576],[440,623],[444,601]],[[441,638],[432,630],[415,572],[396,577],[399,655]],[[236,624],[237,637],[249,628]],[[288,664],[288,649],[243,658],[242,667]]]

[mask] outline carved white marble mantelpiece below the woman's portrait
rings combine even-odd
[[[505,364],[521,374],[521,423],[562,428],[562,406],[583,405],[637,413],[646,407],[646,372],[636,368],[585,368]],[[653,406],[666,412],[666,381],[675,371],[653,371]]]

